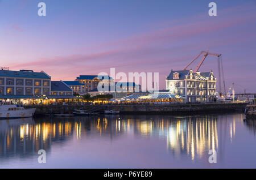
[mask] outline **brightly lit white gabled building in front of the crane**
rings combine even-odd
[[[212,102],[216,98],[216,80],[212,71],[171,70],[166,77],[166,89],[185,97],[187,102]]]

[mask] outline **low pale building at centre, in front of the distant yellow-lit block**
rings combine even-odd
[[[134,82],[118,82],[118,83],[115,83],[114,87],[112,87],[112,85],[109,85],[109,87],[106,89],[107,91],[98,91],[98,88],[95,88],[89,91],[88,93],[91,97],[97,96],[97,95],[111,94],[113,95],[113,98],[121,99],[135,92],[141,92],[141,85],[135,84]]]

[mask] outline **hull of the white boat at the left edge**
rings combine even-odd
[[[0,119],[30,118],[35,114],[36,108],[0,111]]]

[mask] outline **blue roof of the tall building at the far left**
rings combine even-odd
[[[44,72],[0,70],[0,77],[51,79]]]

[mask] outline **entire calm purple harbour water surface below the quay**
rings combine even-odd
[[[0,168],[256,168],[243,114],[0,120]],[[38,150],[46,164],[38,163]],[[209,164],[209,149],[217,163]]]

